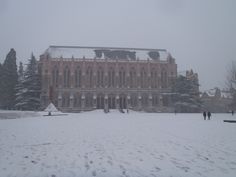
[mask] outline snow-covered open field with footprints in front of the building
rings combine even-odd
[[[235,177],[230,114],[0,111],[0,177]],[[36,116],[37,115],[37,116]]]

